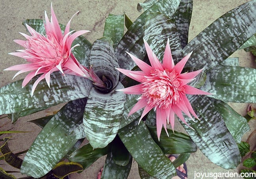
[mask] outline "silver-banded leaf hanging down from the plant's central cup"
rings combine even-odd
[[[122,119],[126,95],[117,89],[124,88],[119,82],[109,93],[92,88],[83,114],[87,140],[93,148],[104,148],[115,138]]]

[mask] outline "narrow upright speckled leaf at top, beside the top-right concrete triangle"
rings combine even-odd
[[[187,45],[189,24],[192,16],[193,0],[181,0],[180,5],[171,19],[178,29],[182,48]]]

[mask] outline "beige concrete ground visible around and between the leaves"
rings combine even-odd
[[[75,16],[71,22],[71,28],[75,30],[87,29],[90,33],[85,34],[85,37],[93,43],[97,38],[102,37],[104,22],[109,13],[122,14],[125,12],[133,21],[140,13],[137,11],[137,0],[53,0],[54,11],[60,23],[66,24],[70,17],[80,11],[80,14]],[[227,11],[237,7],[238,5],[248,2],[248,0],[194,0],[193,16],[189,31],[189,41],[193,39],[200,31],[210,25],[215,19],[223,15]],[[36,0],[8,0],[1,1],[0,9],[0,87],[13,82],[14,71],[3,71],[3,69],[15,64],[23,63],[23,60],[18,57],[8,55],[7,53],[14,52],[21,47],[13,42],[14,39],[23,39],[19,32],[25,33],[25,28],[22,26],[22,21],[29,18],[43,18],[44,11],[50,15],[51,0],[36,1]],[[255,58],[250,53],[239,51],[232,55],[240,57],[241,66],[256,67]],[[24,75],[19,75],[15,80],[24,78]],[[231,104],[241,115],[246,114],[247,104]],[[58,107],[56,108],[58,109]],[[40,128],[31,124],[31,119],[45,116],[46,111],[33,114],[29,117],[22,117],[15,125],[12,125],[8,119],[0,120],[0,130],[23,130],[32,131],[30,133],[15,134],[12,141],[9,142],[9,147],[14,152],[26,150],[32,144]],[[255,120],[254,120],[255,121]],[[255,122],[250,122],[250,125],[255,128]],[[9,123],[7,123],[9,122]],[[7,123],[7,124],[6,124]],[[5,125],[4,125],[5,124]],[[184,131],[178,126],[178,130]],[[245,141],[247,136],[243,138]],[[2,138],[2,137],[1,137]],[[0,161],[3,164],[3,161]],[[98,171],[104,165],[104,157],[96,161],[92,166],[87,168],[81,174],[71,175],[72,179],[94,179]],[[211,163],[200,151],[192,153],[187,161],[189,178],[194,178],[195,172],[227,172],[226,170]],[[3,165],[5,170],[13,170],[13,168]],[[237,172],[229,170],[229,172]],[[14,174],[20,177],[19,174]],[[137,164],[134,161],[132,170],[128,177],[129,179],[139,179]]]

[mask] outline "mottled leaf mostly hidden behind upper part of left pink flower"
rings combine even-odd
[[[23,22],[23,25],[24,24],[28,24],[40,34],[45,34],[45,26],[42,19],[27,19]],[[63,33],[66,26],[63,24],[59,24],[59,26],[61,27]],[[72,31],[72,29],[70,29],[70,31]],[[80,46],[76,46],[74,49],[72,49],[73,55],[83,66],[88,67],[88,57],[91,50],[91,43],[85,37],[79,36],[72,42],[71,46],[76,44],[79,44]]]

